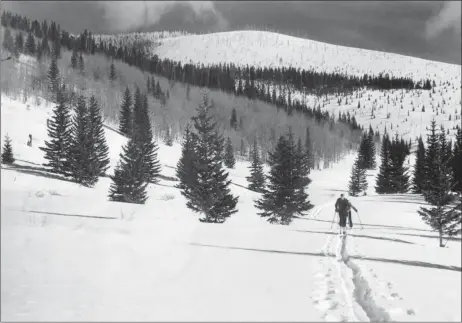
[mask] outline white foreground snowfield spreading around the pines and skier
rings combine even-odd
[[[315,207],[289,226],[257,215],[239,162],[239,212],[205,224],[172,181],[132,205],[107,200],[108,178],[47,177],[38,147],[51,109],[2,96],[2,145],[8,133],[17,159],[1,168],[2,321],[461,320],[460,237],[439,248],[419,196],[378,196],[371,173],[368,195],[351,198],[354,228],[345,239],[331,229],[353,156],[311,174]],[[105,131],[114,165],[125,138]],[[180,146],[159,145],[173,176]]]

